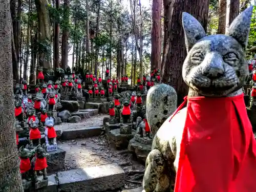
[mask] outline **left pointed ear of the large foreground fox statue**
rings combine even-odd
[[[198,20],[186,12],[182,13],[182,25],[185,34],[185,45],[188,52],[199,39],[206,36],[206,33]]]

